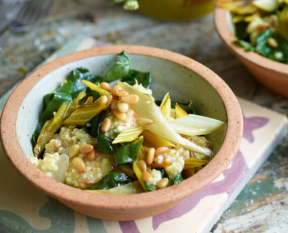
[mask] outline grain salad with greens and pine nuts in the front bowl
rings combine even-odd
[[[111,85],[111,82],[117,82]],[[92,192],[137,193],[177,184],[213,158],[206,134],[224,123],[192,102],[153,98],[151,72],[123,51],[104,77],[72,70],[43,99],[29,160],[60,182]]]

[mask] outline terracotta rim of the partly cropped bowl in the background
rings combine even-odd
[[[214,10],[214,25],[215,25],[216,31],[218,32],[224,44],[231,51],[233,51],[233,53],[237,54],[237,56],[240,56],[242,59],[250,61],[255,66],[260,66],[264,69],[269,69],[277,73],[282,73],[288,79],[288,65],[287,64],[273,61],[253,51],[245,51],[244,48],[234,45],[233,42],[237,38],[230,30],[230,27],[227,22],[227,14],[228,14],[228,10],[220,7],[219,4],[216,5],[215,10]]]

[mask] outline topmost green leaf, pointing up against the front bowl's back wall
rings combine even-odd
[[[118,54],[117,61],[108,70],[103,79],[103,82],[110,83],[112,81],[122,79],[123,77],[126,77],[128,75],[129,69],[130,69],[130,58],[123,51],[122,53]]]

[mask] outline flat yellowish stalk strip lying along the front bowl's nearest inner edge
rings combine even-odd
[[[132,182],[131,184],[122,185],[115,188],[110,188],[108,190],[100,189],[100,190],[86,190],[88,192],[93,193],[105,193],[105,194],[134,194],[143,192],[143,188],[138,180]]]

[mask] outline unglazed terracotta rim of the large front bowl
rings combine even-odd
[[[123,50],[127,54],[151,56],[168,60],[193,70],[202,76],[217,91],[226,108],[228,124],[221,148],[213,160],[194,176],[165,189],[134,195],[91,193],[60,183],[46,176],[28,160],[17,139],[16,119],[24,97],[46,74],[63,65],[88,57],[118,54]],[[133,212],[141,208],[153,210],[153,208],[166,205],[171,201],[177,204],[217,178],[230,164],[238,151],[243,134],[243,116],[239,103],[231,89],[217,74],[206,66],[183,55],[163,49],[121,45],[98,47],[75,52],[51,61],[33,71],[18,85],[9,97],[2,113],[0,129],[3,147],[11,163],[26,179],[43,192],[64,203],[72,203],[74,206],[85,206],[88,209],[101,208],[109,211],[125,209],[125,211]],[[149,215],[152,215],[152,212]],[[131,220],[133,217],[125,219]]]

